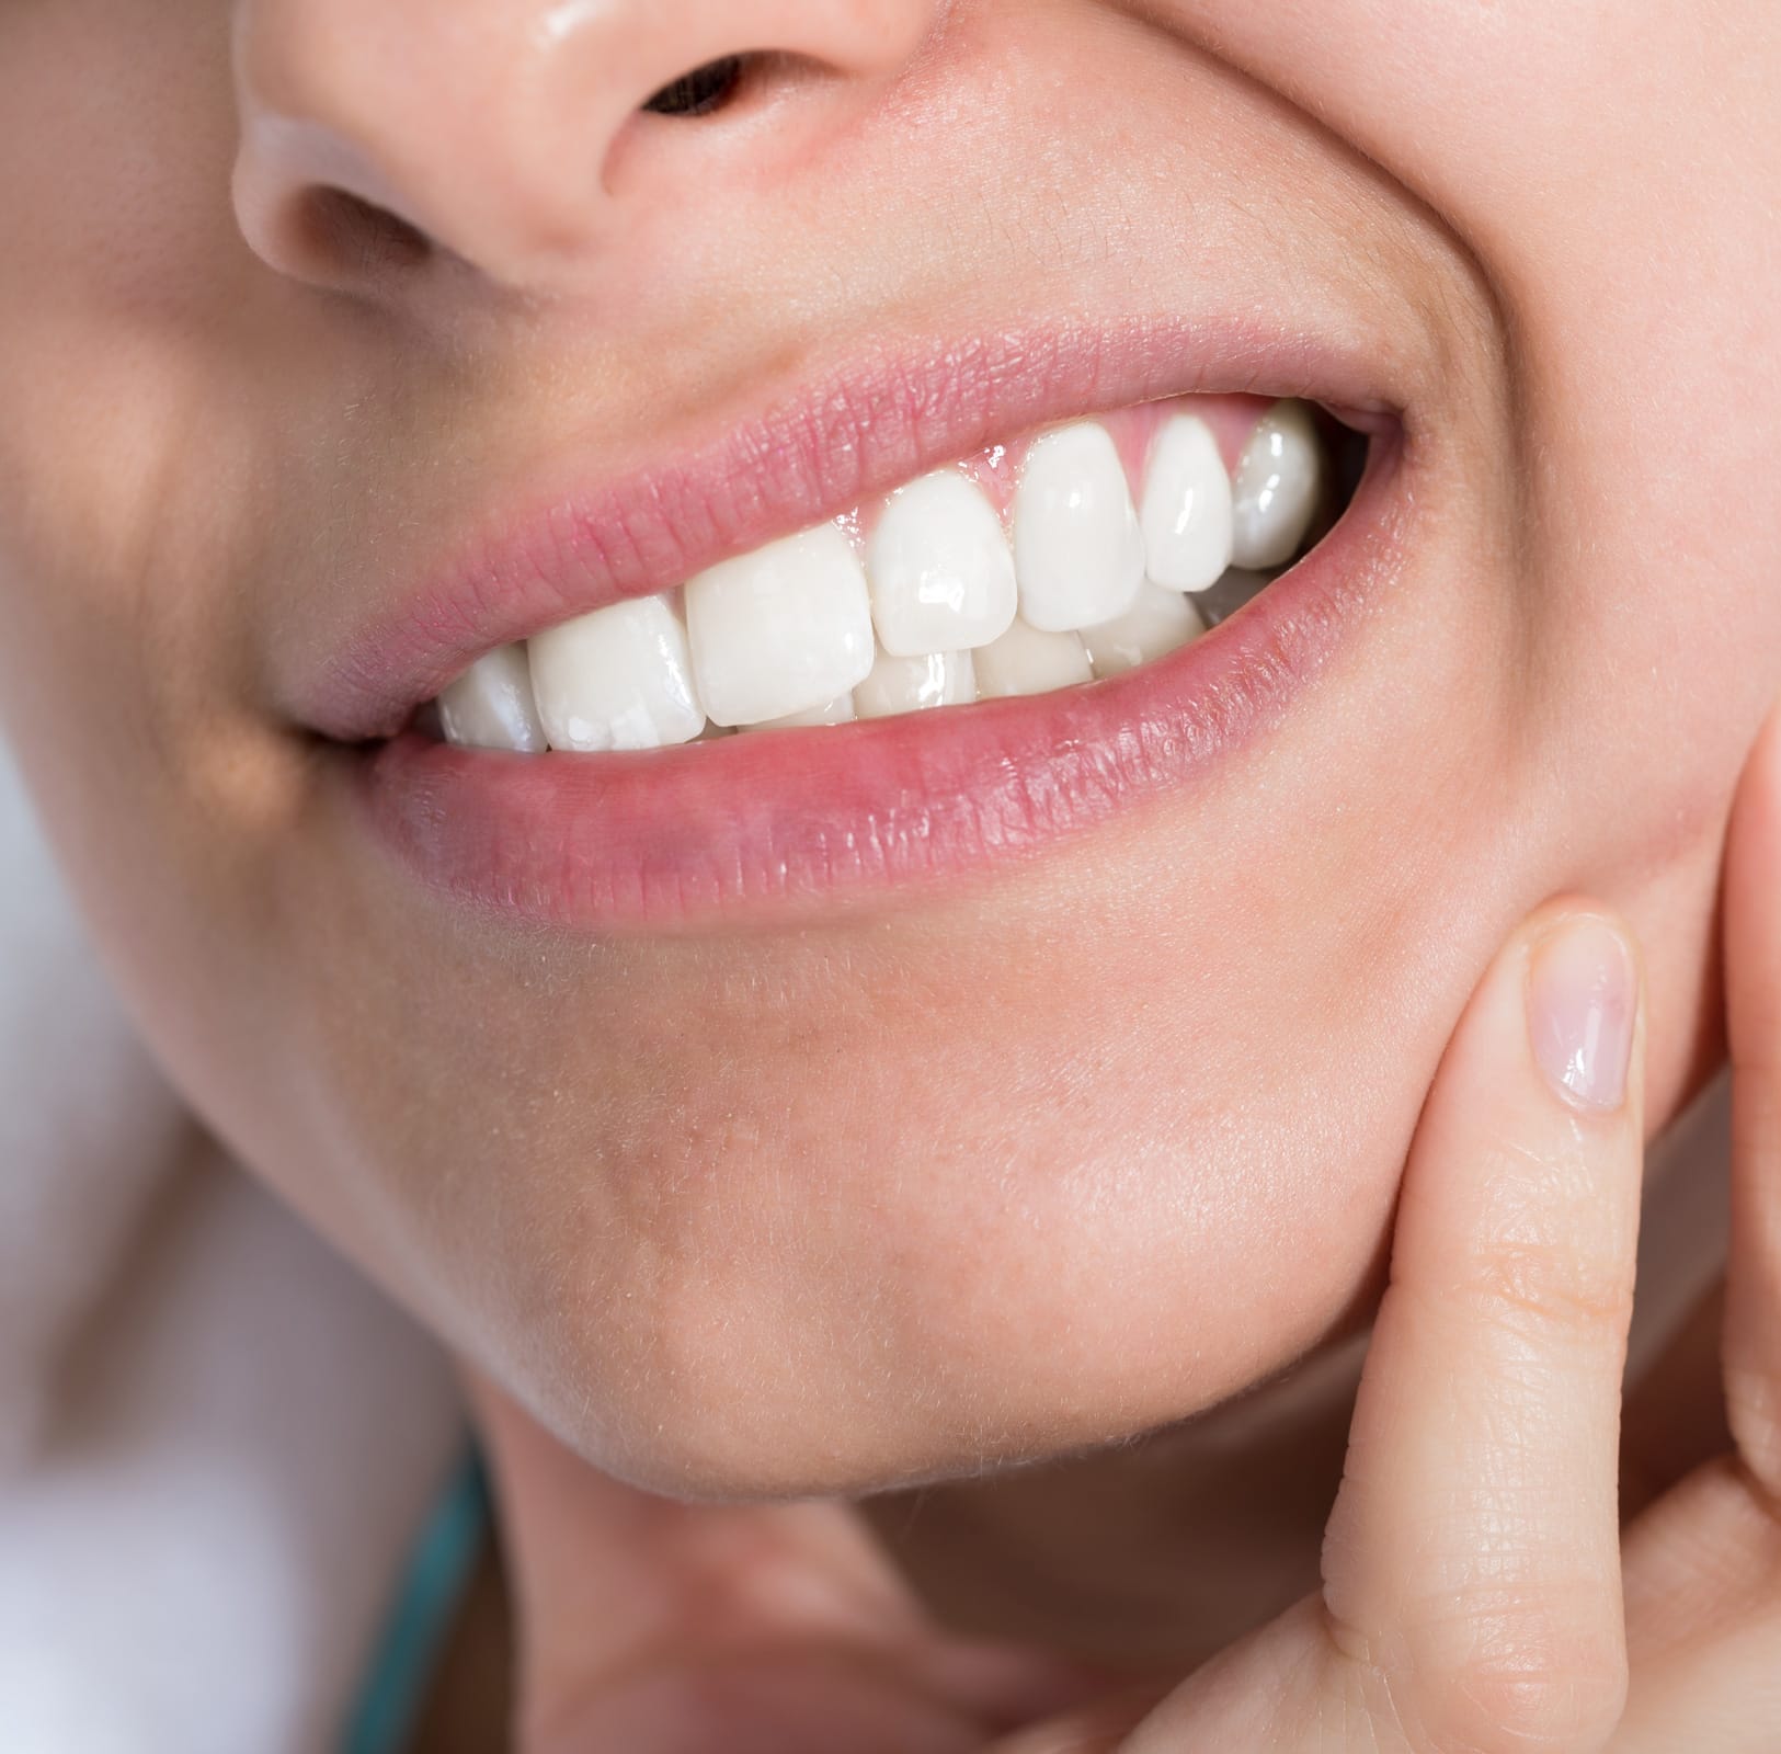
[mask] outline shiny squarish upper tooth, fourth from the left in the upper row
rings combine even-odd
[[[892,657],[987,646],[1013,621],[1013,554],[1001,518],[951,470],[890,499],[866,547],[866,575],[878,641]]]

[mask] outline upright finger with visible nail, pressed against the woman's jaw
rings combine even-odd
[[[1621,1713],[1642,1038],[1624,933],[1546,910],[1418,1127],[1323,1562],[1338,1647],[1416,1745],[1587,1749]]]

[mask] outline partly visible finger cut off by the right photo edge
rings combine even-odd
[[[1731,1255],[1726,1412],[1781,1510],[1781,712],[1756,743],[1726,848]]]

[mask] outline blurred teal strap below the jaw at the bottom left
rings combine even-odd
[[[411,1742],[488,1530],[488,1474],[472,1446],[408,1558],[340,1754],[403,1754]]]

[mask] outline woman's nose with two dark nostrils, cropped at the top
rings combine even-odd
[[[550,290],[613,256],[627,198],[648,194],[623,187],[634,130],[728,125],[739,153],[784,151],[787,130],[907,66],[940,4],[239,0],[237,219],[317,285],[447,251]],[[771,105],[769,128],[727,105]]]

